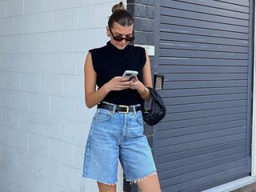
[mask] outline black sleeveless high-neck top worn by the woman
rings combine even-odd
[[[116,76],[122,76],[125,70],[137,70],[138,79],[142,80],[142,69],[146,63],[145,49],[140,46],[127,45],[118,50],[110,41],[106,46],[89,50],[92,56],[94,70],[97,73],[97,86],[101,88],[106,82]],[[117,105],[141,104],[143,99],[137,90],[112,90],[103,98],[104,102]]]

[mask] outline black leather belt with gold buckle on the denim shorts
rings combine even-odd
[[[105,109],[105,110],[115,110],[116,112],[119,112],[119,113],[128,113],[128,112],[134,112],[135,111],[138,111],[138,110],[141,110],[141,106],[122,106],[122,105],[114,105],[114,104],[107,104],[107,103],[104,103],[104,102],[101,102],[98,104],[97,108],[102,108],[102,109]]]

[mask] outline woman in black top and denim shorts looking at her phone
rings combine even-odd
[[[113,6],[106,46],[89,50],[85,63],[85,97],[89,108],[97,105],[86,142],[82,176],[97,180],[100,192],[116,191],[118,159],[126,180],[142,192],[158,192],[154,159],[143,134],[141,104],[150,100],[150,59],[145,49],[131,46],[134,20],[122,2]],[[133,80],[126,70],[138,71]],[[96,90],[96,85],[98,90]]]

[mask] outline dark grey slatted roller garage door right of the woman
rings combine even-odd
[[[166,118],[154,128],[163,192],[250,174],[253,1],[156,1],[154,72]]]

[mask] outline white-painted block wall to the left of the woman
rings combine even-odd
[[[98,191],[82,178],[95,111],[83,68],[116,2],[0,0],[0,192]]]

